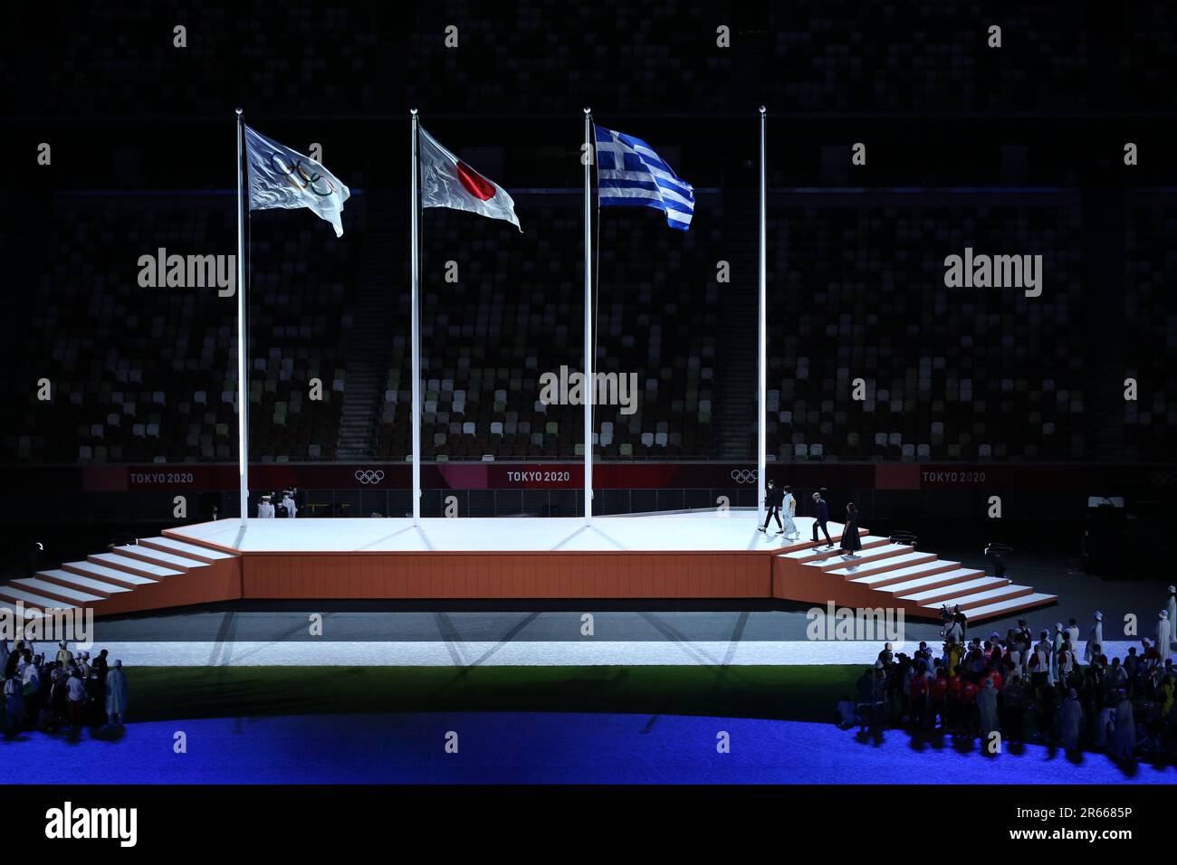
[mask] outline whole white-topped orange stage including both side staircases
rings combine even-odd
[[[574,517],[227,519],[64,563],[0,588],[0,600],[7,591],[13,603],[117,616],[237,599],[759,598],[932,620],[944,604],[980,620],[1056,600],[863,527],[855,558],[816,548],[825,539],[812,540],[811,517],[797,519],[792,541],[757,528],[754,511],[590,525]],[[843,524],[829,530],[837,544]]]

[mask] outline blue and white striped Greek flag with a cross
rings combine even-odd
[[[597,186],[601,207],[654,207],[671,228],[686,231],[694,213],[694,189],[640,138],[593,124]]]

